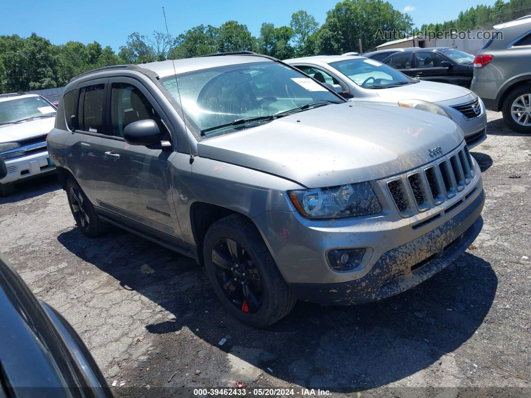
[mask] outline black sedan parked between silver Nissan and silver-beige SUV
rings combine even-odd
[[[474,56],[455,48],[415,48],[392,54],[382,61],[408,76],[466,88],[474,74]]]

